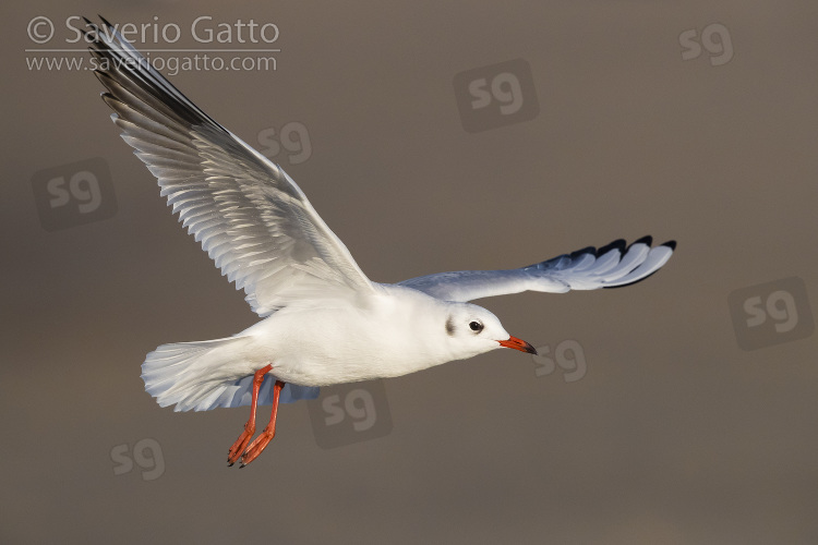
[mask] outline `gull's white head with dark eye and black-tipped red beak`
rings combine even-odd
[[[500,319],[482,306],[470,303],[449,303],[446,320],[441,325],[450,350],[462,358],[490,352],[498,348],[513,348],[536,354],[528,342],[508,335]]]

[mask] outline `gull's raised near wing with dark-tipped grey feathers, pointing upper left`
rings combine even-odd
[[[253,311],[267,316],[328,287],[374,290],[280,167],[199,109],[107,21],[85,21],[122,138]]]

